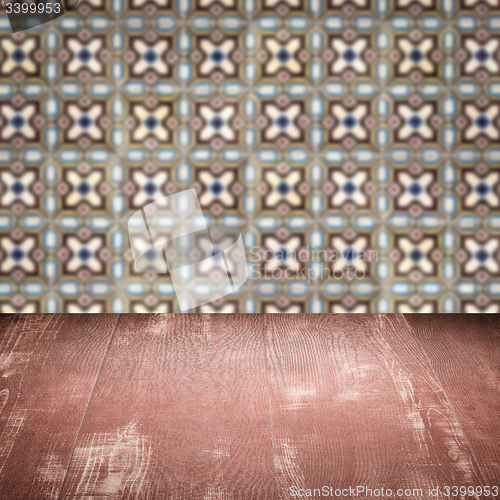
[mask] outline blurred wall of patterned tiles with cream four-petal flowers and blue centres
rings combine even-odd
[[[126,223],[195,187],[272,255],[203,311],[500,311],[499,50],[500,0],[83,0],[15,35],[1,16],[0,310],[176,311]],[[364,277],[284,275],[346,263]]]

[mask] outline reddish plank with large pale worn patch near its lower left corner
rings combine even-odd
[[[62,498],[272,498],[256,315],[127,315]]]

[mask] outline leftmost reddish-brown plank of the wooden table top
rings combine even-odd
[[[58,498],[118,315],[0,319],[0,498]]]

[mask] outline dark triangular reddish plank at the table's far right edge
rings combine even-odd
[[[500,318],[405,315],[490,485],[500,486]]]

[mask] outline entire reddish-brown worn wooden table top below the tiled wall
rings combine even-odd
[[[500,487],[499,316],[0,315],[0,499],[446,486]]]

